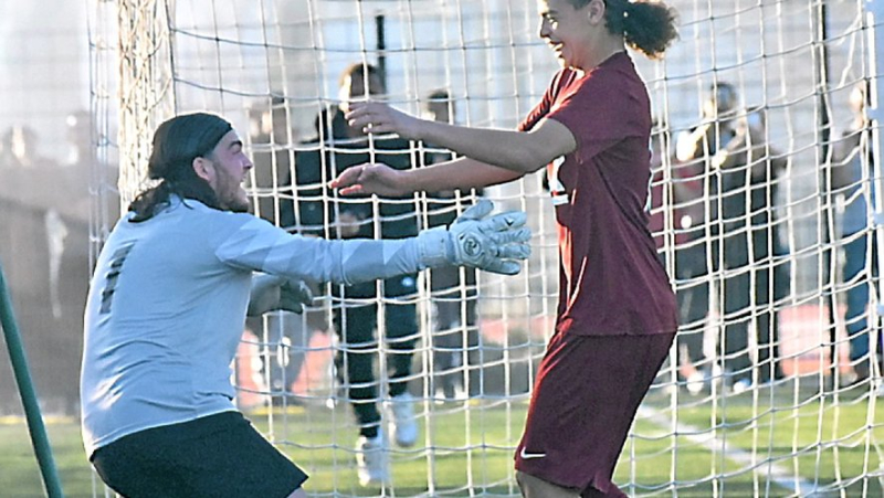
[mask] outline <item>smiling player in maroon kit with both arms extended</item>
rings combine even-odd
[[[547,166],[559,231],[556,329],[540,363],[516,470],[527,498],[625,496],[612,481],[635,412],[677,329],[675,296],[644,211],[651,106],[625,45],[657,57],[677,36],[662,2],[539,0],[562,68],[517,131],[354,105],[351,126],[460,157],[399,171],[364,165],[333,187],[403,195],[487,187]]]

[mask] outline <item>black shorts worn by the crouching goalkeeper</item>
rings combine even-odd
[[[307,480],[240,412],[140,431],[91,460],[126,498],[285,498]]]

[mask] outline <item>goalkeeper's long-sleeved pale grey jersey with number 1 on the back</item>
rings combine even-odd
[[[444,231],[398,241],[292,235],[180,199],[120,220],[98,257],[81,377],[88,455],[146,428],[234,410],[230,364],[253,272],[352,284],[446,263]]]

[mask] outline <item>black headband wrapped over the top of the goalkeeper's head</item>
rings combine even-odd
[[[147,165],[152,180],[182,178],[193,159],[206,157],[233,126],[214,114],[196,113],[176,116],[154,134],[154,150]]]

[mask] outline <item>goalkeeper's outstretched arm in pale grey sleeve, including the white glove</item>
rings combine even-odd
[[[451,265],[515,275],[530,255],[527,216],[524,211],[491,215],[493,208],[483,200],[450,227],[383,241],[292,236],[255,219],[228,236],[217,255],[270,275],[345,285]]]

